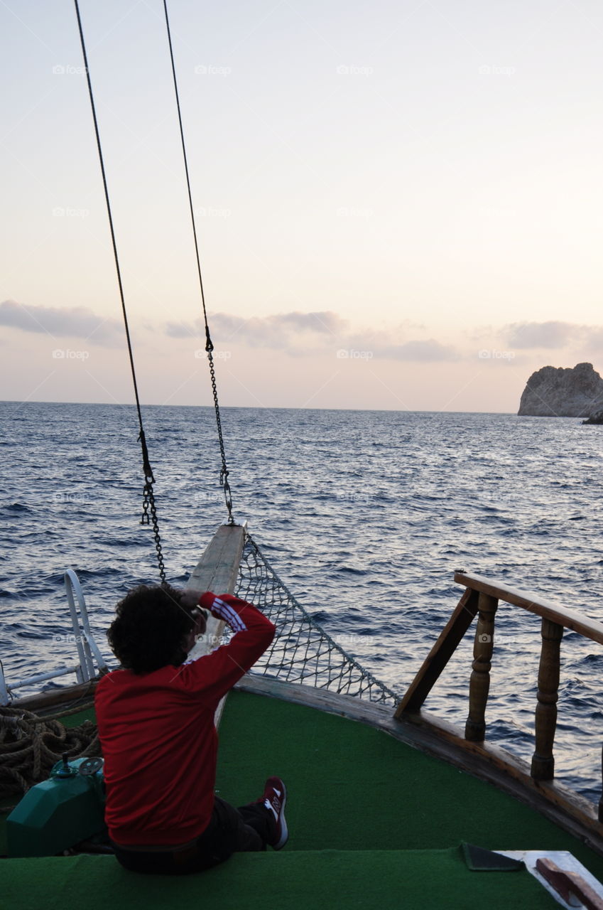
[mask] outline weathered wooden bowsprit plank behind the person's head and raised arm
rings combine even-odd
[[[215,594],[232,594],[235,591],[238,566],[243,555],[246,524],[223,524],[209,541],[206,551],[197,562],[186,582],[186,591],[214,591]],[[225,623],[213,616],[207,617],[206,632],[199,637],[188,653],[189,659],[203,657],[214,651],[222,641]],[[216,727],[220,723],[226,695],[216,708]]]

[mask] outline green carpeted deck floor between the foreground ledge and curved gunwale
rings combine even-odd
[[[264,778],[289,789],[287,850],[570,850],[603,880],[603,858],[538,813],[451,764],[361,723],[231,693],[216,787],[236,805]]]

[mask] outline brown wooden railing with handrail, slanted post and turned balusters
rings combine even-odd
[[[469,680],[469,713],[465,739],[483,743],[486,737],[486,705],[490,685],[490,666],[494,646],[494,621],[498,601],[515,604],[542,618],[542,645],[538,667],[538,696],[535,715],[536,747],[530,773],[534,781],[552,781],[555,776],[553,743],[557,726],[559,685],[559,652],[564,629],[584,635],[592,642],[603,644],[603,623],[589,620],[578,612],[567,610],[538,598],[526,591],[516,591],[499,581],[480,575],[455,572],[455,581],[465,585],[446,628],[427,655],[408,691],[397,706],[396,717],[401,719],[417,713],[428,693],[437,682],[448,660],[455,652],[477,614],[477,629],[473,646],[473,663]],[[603,756],[602,756],[603,757]],[[598,820],[603,822],[603,796],[598,804]]]

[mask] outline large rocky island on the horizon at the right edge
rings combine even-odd
[[[519,402],[519,415],[590,417],[603,409],[603,379],[592,363],[543,367],[532,373]]]

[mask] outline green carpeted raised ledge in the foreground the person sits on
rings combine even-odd
[[[469,872],[460,849],[237,854],[202,875],[133,875],[110,856],[7,860],[2,899],[10,910],[554,910],[523,869]],[[37,880],[33,881],[34,876]],[[26,883],[26,884],[25,884]]]

